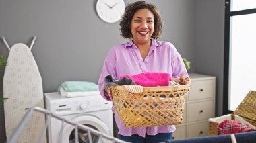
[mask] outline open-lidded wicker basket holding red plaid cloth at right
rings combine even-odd
[[[249,124],[256,126],[256,91],[249,91],[236,110],[232,114],[229,114],[230,120],[236,120],[235,115],[243,117],[245,123],[249,122]],[[218,134],[217,127],[220,123],[218,122],[218,118],[220,119],[221,117],[216,117],[216,120],[214,120],[214,118],[209,119],[209,136],[215,136]],[[223,118],[225,117],[223,116]],[[238,122],[243,123],[243,121],[239,120]]]

